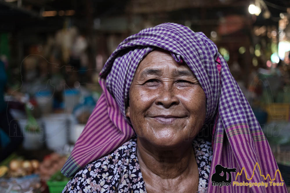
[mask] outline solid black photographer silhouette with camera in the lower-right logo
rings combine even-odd
[[[237,168],[226,168],[220,164],[215,166],[215,173],[211,176],[213,186],[230,186],[232,183],[231,172],[237,172]]]

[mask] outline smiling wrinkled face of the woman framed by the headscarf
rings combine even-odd
[[[129,91],[126,116],[140,139],[155,146],[180,146],[197,135],[206,97],[197,78],[169,52],[154,50],[139,64]]]

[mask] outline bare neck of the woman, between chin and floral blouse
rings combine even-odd
[[[161,150],[148,141],[137,138],[137,158],[146,190],[162,185],[168,188],[177,188],[177,185],[182,188],[193,184],[198,186],[198,168],[193,147],[190,141],[184,142],[180,147]],[[169,189],[172,190],[171,188]],[[189,189],[192,192],[195,188]]]

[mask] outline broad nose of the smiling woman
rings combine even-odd
[[[179,99],[175,92],[171,89],[161,89],[159,96],[155,100],[155,104],[162,105],[164,108],[170,108],[179,104]]]

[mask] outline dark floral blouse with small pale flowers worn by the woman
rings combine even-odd
[[[111,154],[86,165],[68,181],[62,193],[146,192],[136,141],[137,138],[130,139]],[[212,160],[211,142],[195,138],[193,148],[199,171],[198,192],[206,192]]]

